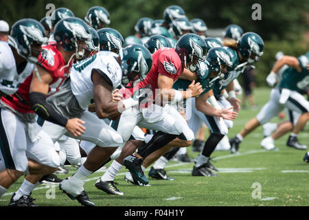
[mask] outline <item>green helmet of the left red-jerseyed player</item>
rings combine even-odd
[[[54,39],[67,52],[76,52],[76,58],[84,57],[84,47],[82,52],[78,52],[78,41],[91,41],[91,33],[87,23],[77,17],[61,19],[54,29]]]

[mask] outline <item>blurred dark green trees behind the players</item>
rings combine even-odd
[[[238,24],[244,32],[256,32],[264,40],[264,55],[256,64],[258,86],[266,85],[265,78],[278,51],[300,56],[309,50],[308,0],[10,0],[3,1],[0,19],[10,26],[23,18],[40,21],[45,17],[48,3],[54,3],[56,8],[69,8],[81,19],[89,8],[100,5],[110,14],[111,24],[108,27],[118,30],[124,38],[135,33],[134,25],[141,17],[163,19],[163,11],[169,5],[180,5],[190,20],[203,19],[209,29]],[[262,6],[262,20],[251,19],[254,3]]]

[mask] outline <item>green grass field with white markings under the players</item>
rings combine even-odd
[[[242,126],[253,118],[268,101],[270,89],[255,89],[258,110],[242,109],[234,122],[229,137],[233,137]],[[273,118],[271,122],[279,122]],[[309,127],[299,135],[299,142],[309,144]],[[169,162],[165,168],[174,181],[151,179],[151,186],[133,186],[124,181],[126,169],[122,168],[115,181],[117,188],[126,195],[107,195],[95,188],[94,183],[103,173],[93,173],[84,185],[89,198],[96,206],[308,206],[309,164],[303,162],[306,151],[286,146],[288,135],[275,142],[279,151],[266,151],[260,147],[262,128],[258,128],[244,139],[240,154],[231,155],[229,151],[216,151],[212,155],[214,166],[219,168],[218,177],[192,177],[193,163]],[[187,148],[192,159],[198,153]],[[76,172],[69,167],[70,173],[58,175],[64,179]],[[148,170],[146,174],[148,175]],[[0,198],[0,206],[7,206],[12,193],[23,181],[20,178],[8,192]],[[260,199],[251,186],[260,186]],[[51,192],[55,192],[51,198]],[[62,194],[58,187],[40,185],[32,193],[38,206],[80,206]],[[49,199],[47,199],[49,198]]]

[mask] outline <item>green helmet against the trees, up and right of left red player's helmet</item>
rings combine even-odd
[[[101,22],[104,23],[104,25],[109,25],[111,23],[109,20],[108,11],[100,6],[90,8],[86,14],[86,17],[84,17],[84,21],[89,23],[89,25],[95,28],[95,30],[102,28],[100,25]]]

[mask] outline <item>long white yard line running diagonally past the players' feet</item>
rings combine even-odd
[[[238,154],[229,154],[229,155],[223,155],[220,157],[215,157],[214,160],[219,160],[219,159],[226,159],[226,158],[231,158],[231,157],[238,157],[238,156],[242,156],[242,155],[248,155],[248,154],[253,154],[253,153],[264,153],[267,152],[264,149],[261,150],[253,150],[253,151],[246,151],[244,153],[238,153]],[[165,168],[171,168],[171,167],[176,167],[176,166],[183,166],[183,165],[187,165],[187,164],[192,164],[192,163],[177,163],[177,164],[172,164],[172,165],[167,165],[165,166]],[[146,171],[150,170],[150,168],[146,168]],[[126,175],[125,173],[118,173],[118,175]],[[86,181],[93,181],[93,180],[97,180],[99,177],[93,177],[93,178],[89,178]],[[41,190],[41,189],[47,189],[50,188],[50,186],[53,186],[54,184],[46,184],[45,186],[41,186],[41,187],[36,187],[34,188],[34,190]],[[57,186],[58,187],[58,186]],[[5,196],[9,196],[9,195],[13,195],[14,192],[6,192],[2,195],[2,197]]]

